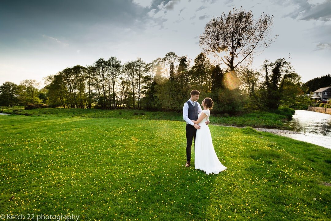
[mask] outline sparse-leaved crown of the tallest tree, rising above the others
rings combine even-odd
[[[274,38],[270,38],[273,16],[262,13],[257,22],[253,21],[251,11],[233,9],[228,15],[212,18],[200,35],[200,47],[207,54],[213,53],[221,57],[231,71],[252,55],[258,46],[268,46]]]

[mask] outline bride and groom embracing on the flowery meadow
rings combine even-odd
[[[197,102],[200,92],[191,91],[191,98],[184,103],[183,118],[186,121],[186,167],[191,165],[191,146],[194,139],[195,169],[203,170],[206,174],[218,174],[227,168],[219,162],[213,147],[212,136],[208,127],[210,109],[213,100],[206,97],[201,106]]]

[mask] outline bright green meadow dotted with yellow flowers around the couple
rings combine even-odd
[[[194,161],[184,167],[183,121],[144,119],[152,118],[147,114],[124,119],[118,111],[38,111],[46,113],[0,116],[0,214],[330,220],[329,149],[210,125],[217,156],[228,169],[206,175]]]

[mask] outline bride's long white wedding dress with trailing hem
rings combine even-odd
[[[206,121],[210,116],[209,110],[203,110],[207,117],[205,117],[200,123],[200,129],[197,130],[195,137],[195,169],[200,169],[206,172],[206,174],[218,174],[219,172],[226,170],[227,168],[219,162],[214,150],[212,135]],[[200,117],[201,113],[198,115]]]

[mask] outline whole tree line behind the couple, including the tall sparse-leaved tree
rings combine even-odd
[[[203,52],[192,66],[187,56],[175,52],[150,63],[141,58],[125,63],[115,56],[100,58],[93,65],[76,65],[48,76],[41,90],[35,80],[6,82],[0,86],[0,105],[180,112],[190,91],[197,89],[201,97],[214,100],[214,113],[306,106],[309,99],[301,96],[300,76],[290,62],[266,60],[260,70],[249,68],[256,48],[275,39],[270,36],[272,21],[266,14],[254,21],[251,11],[234,8],[207,23],[200,35]],[[220,62],[211,61],[210,54]]]

